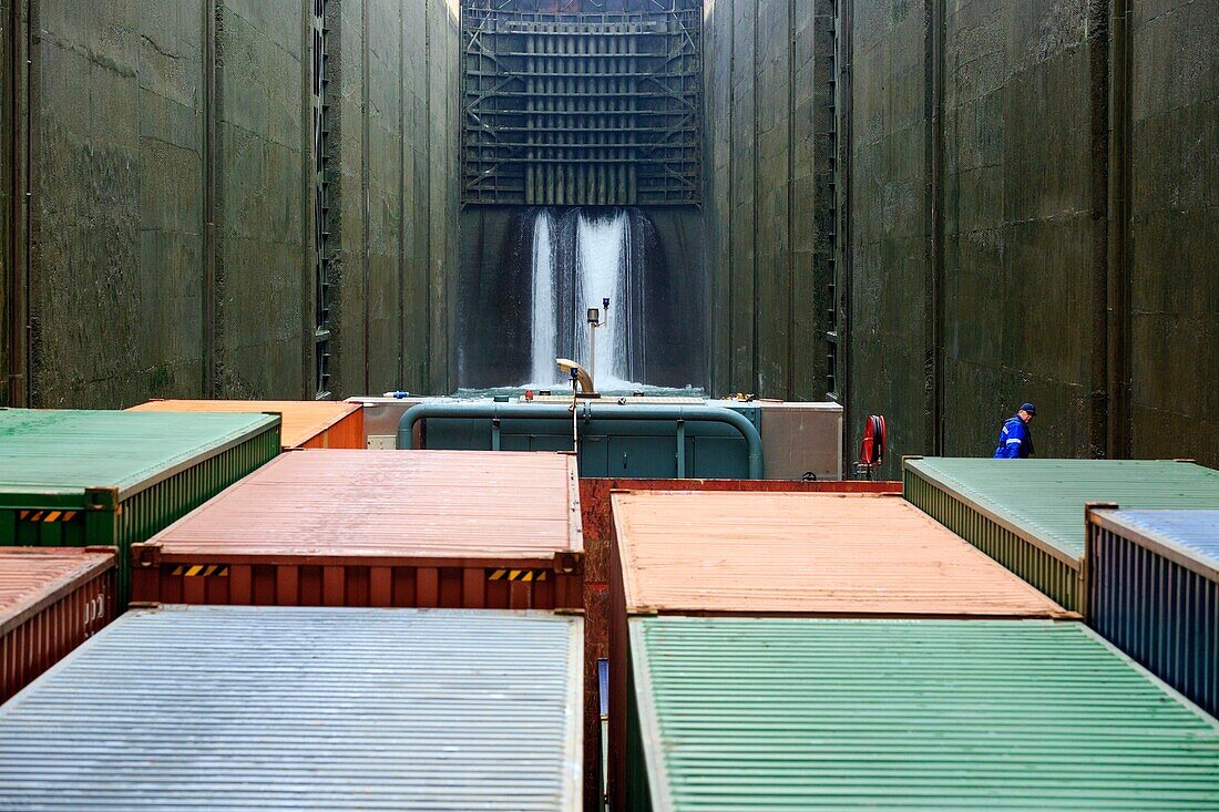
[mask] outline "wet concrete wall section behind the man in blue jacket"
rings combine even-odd
[[[989,455],[1034,400],[1041,456],[1219,463],[1214,15],[851,10],[851,441]]]

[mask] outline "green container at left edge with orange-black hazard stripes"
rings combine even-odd
[[[0,545],[118,547],[182,518],[279,454],[277,415],[0,408]]]

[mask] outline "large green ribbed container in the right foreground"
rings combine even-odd
[[[630,624],[631,810],[1219,808],[1219,722],[1081,623]]]

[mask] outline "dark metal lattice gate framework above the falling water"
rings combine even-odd
[[[700,202],[701,1],[579,5],[463,1],[462,201]]]

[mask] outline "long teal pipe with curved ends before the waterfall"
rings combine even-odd
[[[740,412],[734,412],[723,406],[650,406],[646,404],[631,404],[619,406],[617,404],[589,404],[577,405],[581,410],[583,419],[613,419],[613,421],[672,421],[674,423],[702,421],[706,423],[725,423],[735,428],[745,440],[750,450],[750,479],[762,479],[762,435],[757,427]],[[429,417],[435,418],[482,418],[482,419],[561,419],[570,417],[570,406],[563,404],[452,404],[432,402],[416,404],[406,410],[402,419],[397,424],[397,447],[410,449],[413,446],[414,424]],[[680,429],[680,426],[679,426]],[[679,430],[679,433],[681,433]],[[684,468],[685,466],[683,466]]]

